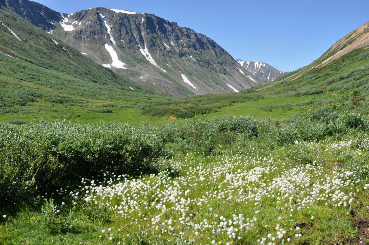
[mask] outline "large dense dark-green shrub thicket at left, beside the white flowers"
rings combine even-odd
[[[81,173],[148,172],[167,153],[148,125],[0,123],[0,207],[16,207],[32,201],[37,191],[76,183]]]

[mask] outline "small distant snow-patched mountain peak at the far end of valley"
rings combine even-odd
[[[273,81],[278,77],[288,73],[288,72],[280,72],[279,70],[275,69],[271,65],[268,65],[267,63],[242,61],[241,59],[237,59],[237,62],[248,72],[252,73],[252,75],[256,76],[258,80],[264,81],[264,83]]]

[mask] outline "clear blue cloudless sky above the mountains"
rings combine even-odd
[[[281,71],[308,65],[369,21],[369,1],[36,0],[61,13],[107,7],[155,14],[205,34],[233,58]]]

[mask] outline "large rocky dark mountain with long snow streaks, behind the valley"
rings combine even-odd
[[[101,7],[61,14],[27,0],[2,2],[101,66],[177,97],[238,92],[266,82],[212,39],[154,14]]]

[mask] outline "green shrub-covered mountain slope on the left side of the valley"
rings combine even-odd
[[[2,9],[0,34],[0,114],[16,113],[14,106],[25,106],[30,101],[71,105],[76,101],[155,96],[153,88],[98,65],[60,39]]]

